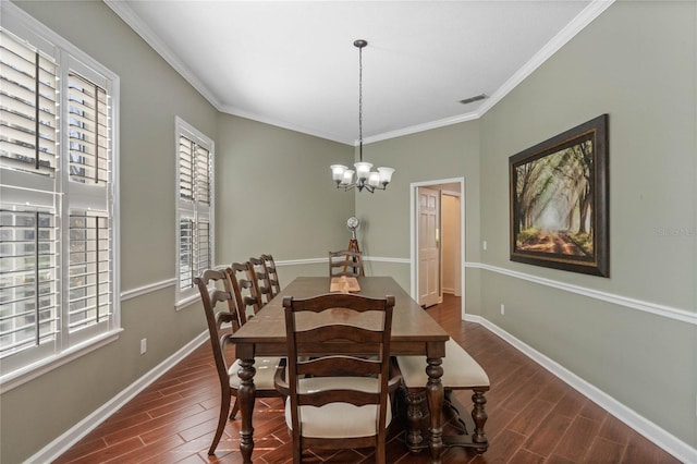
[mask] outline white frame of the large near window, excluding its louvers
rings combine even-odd
[[[15,193],[13,196],[32,199],[38,196],[52,196],[53,213],[57,237],[54,239],[54,256],[58,261],[53,269],[60,279],[60,286],[57,289],[56,312],[57,312],[57,335],[56,341],[45,349],[38,345],[28,351],[21,351],[3,358],[3,371],[0,377],[0,393],[4,393],[21,386],[34,378],[37,378],[57,367],[72,362],[91,351],[95,351],[108,343],[119,339],[123,331],[121,327],[120,307],[120,218],[119,218],[119,106],[120,106],[120,78],[117,74],[103,66],[101,63],[89,57],[87,53],[73,46],[70,41],[38,22],[28,13],[12,4],[2,2],[0,5],[2,15],[2,29],[25,41],[29,48],[37,49],[40,53],[51,57],[56,61],[57,85],[56,102],[56,166],[52,178],[44,178],[37,173],[23,173],[17,171],[0,169],[3,187],[5,191],[14,190],[16,186],[28,188],[25,193]],[[107,113],[109,119],[108,149],[110,151],[110,180],[98,191],[74,185],[70,181],[70,123],[69,123],[69,74],[80,74],[87,77],[95,86],[102,87],[109,98],[110,110]],[[50,184],[53,184],[52,186]],[[32,191],[32,188],[37,188]],[[109,218],[110,252],[108,291],[110,292],[108,317],[101,322],[88,327],[86,330],[71,330],[70,321],[70,215],[72,210],[81,209],[82,206],[91,207],[95,198],[99,198]],[[8,200],[5,198],[5,200]],[[12,200],[8,200],[12,203]],[[27,202],[29,203],[29,202]],[[29,208],[30,209],[30,208]],[[11,359],[11,362],[8,362]],[[8,367],[9,366],[9,367]]]

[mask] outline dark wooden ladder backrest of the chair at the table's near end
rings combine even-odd
[[[288,340],[289,401],[291,408],[294,448],[303,443],[313,445],[322,439],[303,436],[299,406],[322,406],[329,403],[351,403],[356,406],[377,405],[375,436],[333,439],[333,443],[321,447],[346,448],[348,440],[363,440],[364,445],[374,444],[384,450],[386,418],[388,408],[388,382],[390,380],[390,335],[394,297],[369,298],[362,295],[331,293],[304,300],[292,296],[283,298]],[[337,313],[338,312],[338,313]],[[327,323],[333,313],[341,322]],[[362,352],[356,354],[356,346]],[[364,350],[365,349],[365,350]],[[328,378],[320,389],[299,388],[308,378]],[[347,378],[377,377],[377,391],[351,389]],[[338,379],[339,378],[339,379]],[[345,379],[344,379],[345,378]],[[345,417],[335,417],[341,425]],[[331,442],[332,439],[325,440]],[[378,443],[382,443],[379,445]]]

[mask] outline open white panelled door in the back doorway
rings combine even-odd
[[[418,188],[418,304],[440,303],[440,192]]]

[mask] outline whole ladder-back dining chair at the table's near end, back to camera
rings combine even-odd
[[[283,298],[289,357],[276,382],[288,394],[285,423],[295,464],[308,448],[375,447],[376,462],[386,462],[389,391],[400,381],[390,377],[393,307],[394,296]],[[331,314],[341,315],[342,322],[327,323]]]

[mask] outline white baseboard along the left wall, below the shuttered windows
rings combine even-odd
[[[176,363],[188,356],[194,350],[196,350],[201,343],[208,341],[208,330],[206,330],[200,335],[196,337],[194,340],[188,342],[186,345],[181,347],[170,357],[164,359],[162,363],[155,366],[148,373],[146,373],[143,377],[137,379],[135,382],[131,383],[125,390],[121,391],[114,398],[105,403],[101,407],[93,412],[90,415],[85,417],[80,423],[75,424],[75,426],[71,427],[63,435],[58,437],[56,440],[48,443],[39,452],[30,456],[26,460],[27,463],[49,463],[57,460],[61,454],[66,452],[73,444],[80,441],[87,434],[93,431],[99,424],[107,420],[113,413],[119,411],[123,405],[125,405],[129,401],[133,400],[133,398],[140,393],[145,388],[147,388],[150,383],[157,380],[164,373],[170,370]]]

